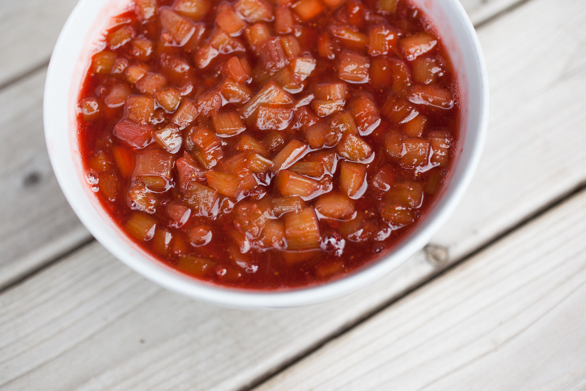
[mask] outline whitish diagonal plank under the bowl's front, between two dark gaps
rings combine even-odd
[[[472,188],[434,241],[450,251],[442,267],[585,181],[583,8],[531,0],[480,29],[490,134]],[[94,242],[0,295],[0,389],[240,390],[437,270],[419,253],[342,300],[245,312],[158,288]]]

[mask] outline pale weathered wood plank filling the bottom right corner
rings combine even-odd
[[[586,191],[259,388],[578,390]]]

